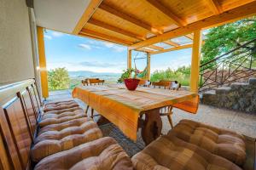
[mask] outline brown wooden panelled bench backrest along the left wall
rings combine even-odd
[[[0,88],[0,167],[28,169],[41,99],[33,79]]]

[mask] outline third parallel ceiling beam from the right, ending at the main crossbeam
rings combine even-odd
[[[147,31],[150,31],[150,32],[152,32],[156,35],[159,35],[159,34],[163,33],[162,31],[159,31],[159,30],[153,28],[152,26],[149,26],[148,24],[144,23],[142,20],[137,20],[136,18],[131,17],[129,14],[125,14],[125,13],[123,13],[123,12],[121,12],[121,11],[115,9],[115,8],[112,8],[112,7],[108,6],[105,3],[102,3],[99,8],[108,12],[109,14],[116,15],[119,18],[121,18],[122,20],[129,21],[132,24],[134,24],[136,26],[139,26],[139,27],[141,27],[141,28],[143,28]]]

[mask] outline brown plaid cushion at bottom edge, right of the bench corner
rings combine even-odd
[[[161,136],[132,157],[137,170],[241,170],[240,167],[176,136]]]

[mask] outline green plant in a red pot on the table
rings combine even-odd
[[[131,78],[132,73],[134,73],[133,78]],[[137,79],[137,74],[135,69],[126,69],[121,77],[119,78],[118,82],[125,82],[125,86],[128,90],[135,90],[137,88],[138,83],[140,82]]]

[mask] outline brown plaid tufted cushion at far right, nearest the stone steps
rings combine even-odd
[[[177,138],[196,144],[237,165],[242,165],[246,160],[244,138],[236,132],[190,120],[182,120],[172,131],[176,132]]]

